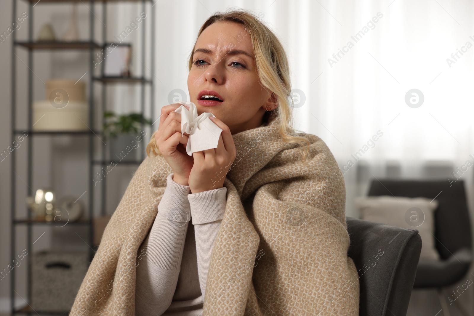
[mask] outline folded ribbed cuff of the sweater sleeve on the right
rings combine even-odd
[[[226,187],[188,194],[192,225],[221,220],[226,210],[226,194]]]

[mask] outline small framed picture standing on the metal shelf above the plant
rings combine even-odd
[[[102,47],[102,55],[102,77],[128,78],[131,76],[131,44],[105,43]]]

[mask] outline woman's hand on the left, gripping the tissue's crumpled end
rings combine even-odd
[[[174,112],[181,104],[161,108],[160,125],[155,134],[156,146],[173,169],[173,181],[188,185],[194,157],[186,153],[189,134],[181,135],[181,114]],[[189,107],[186,106],[189,110]]]

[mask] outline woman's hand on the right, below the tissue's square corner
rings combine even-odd
[[[219,118],[210,119],[222,129],[222,132],[219,135],[217,148],[192,153],[194,165],[189,174],[191,193],[222,188],[230,165],[237,156],[229,127]]]

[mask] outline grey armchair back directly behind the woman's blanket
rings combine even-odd
[[[359,315],[406,315],[421,253],[418,230],[354,217],[346,222],[348,255],[359,275]]]

